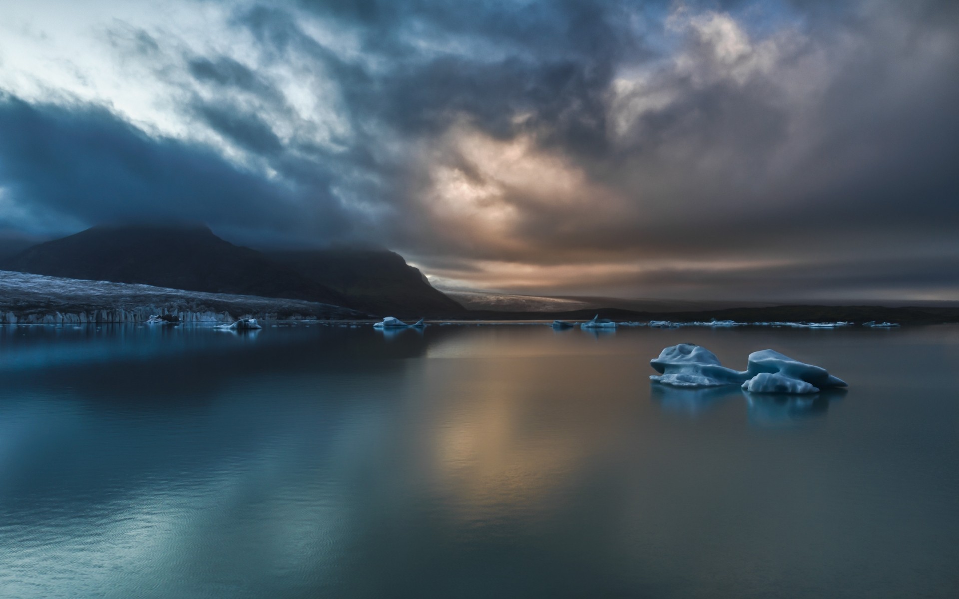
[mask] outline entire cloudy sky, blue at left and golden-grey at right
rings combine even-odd
[[[436,285],[959,299],[959,3],[0,0],[0,236],[201,220]]]

